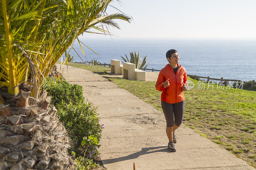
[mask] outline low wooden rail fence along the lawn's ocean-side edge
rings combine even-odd
[[[75,63],[80,63],[80,64],[82,64],[82,62],[75,62]],[[91,62],[85,62],[85,63],[89,63],[89,64],[91,64]],[[104,67],[106,67],[106,66],[109,66],[109,67],[111,67],[111,64],[106,64],[106,63],[99,63],[99,64],[97,64],[97,65],[103,65]],[[154,71],[161,71],[161,70],[155,70],[155,69],[146,69],[146,68],[142,68],[141,70],[151,70],[152,72],[154,72]],[[223,77],[221,77],[220,79],[219,78],[210,78],[209,76],[208,77],[203,77],[203,76],[196,76],[196,75],[189,75],[189,74],[187,74],[187,76],[189,76],[189,77],[191,77],[191,78],[193,78],[193,79],[195,79],[196,80],[196,78],[206,78],[207,79],[207,83],[209,82],[209,80],[220,80],[221,82],[223,82],[224,81],[224,83],[226,84],[228,81],[235,81],[235,82],[241,82],[241,80],[235,80],[235,79],[224,79]],[[252,82],[249,82],[251,85],[252,85],[252,87],[255,85],[255,80],[252,80]]]

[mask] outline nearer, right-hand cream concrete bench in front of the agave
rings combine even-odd
[[[132,63],[123,63],[123,77],[128,80],[140,80],[146,81],[146,71],[135,69],[135,64]]]

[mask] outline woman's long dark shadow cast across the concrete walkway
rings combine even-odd
[[[163,149],[161,149],[161,148],[163,148]],[[159,149],[159,150],[150,151],[150,150],[155,150],[155,149]],[[101,161],[103,164],[111,164],[111,163],[120,162],[120,161],[124,161],[124,160],[135,159],[135,158],[138,158],[140,155],[145,155],[145,154],[154,153],[154,152],[169,152],[169,150],[167,149],[167,146],[142,148],[141,151],[132,153],[127,156],[123,156],[120,158],[114,158],[114,159],[103,159]]]

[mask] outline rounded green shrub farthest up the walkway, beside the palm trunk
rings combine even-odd
[[[42,89],[52,96],[51,104],[57,106],[62,102],[80,104],[84,102],[83,89],[80,85],[71,85],[65,79],[46,78],[41,86]]]

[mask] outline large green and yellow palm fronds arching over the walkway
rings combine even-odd
[[[80,34],[90,28],[109,33],[102,25],[119,28],[113,19],[130,22],[124,14],[106,14],[111,1],[1,0],[0,87],[18,94],[18,85],[31,74],[37,98],[44,78]]]

